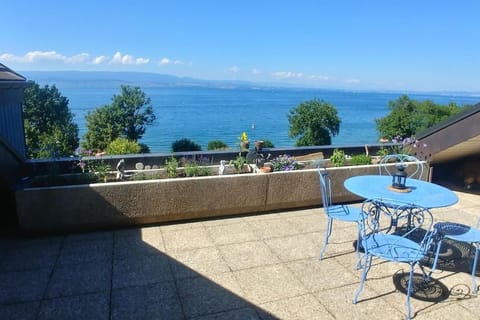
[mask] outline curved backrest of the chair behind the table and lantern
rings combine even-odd
[[[397,170],[396,165],[403,165],[408,178],[423,178],[423,163],[415,156],[409,154],[389,154],[378,163],[380,175],[392,176]]]

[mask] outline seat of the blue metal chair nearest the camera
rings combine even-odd
[[[362,239],[369,254],[389,261],[412,262],[422,260],[420,244],[394,234],[376,233]]]

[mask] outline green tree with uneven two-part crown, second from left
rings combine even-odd
[[[140,87],[122,85],[121,94],[114,95],[110,105],[104,105],[86,115],[87,133],[83,146],[104,150],[117,138],[138,142],[145,133],[146,126],[153,124],[155,118],[150,98]]]

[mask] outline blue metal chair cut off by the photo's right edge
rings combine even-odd
[[[440,248],[444,239],[454,241],[467,242],[475,248],[475,255],[472,262],[472,289],[473,293],[478,293],[477,280],[475,271],[477,270],[478,254],[480,251],[480,219],[477,222],[476,228],[455,222],[438,222],[434,228],[437,232],[438,242],[435,251],[435,260],[432,270],[435,270],[440,256]]]

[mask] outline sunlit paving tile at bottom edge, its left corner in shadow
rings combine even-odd
[[[312,294],[277,300],[261,304],[260,306],[268,311],[266,315],[262,316],[264,320],[335,319]]]

